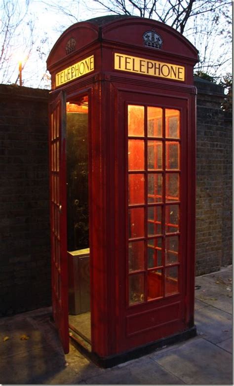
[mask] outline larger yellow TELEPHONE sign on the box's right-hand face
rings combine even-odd
[[[185,67],[177,64],[163,63],[156,60],[123,55],[115,52],[115,70],[165,77],[168,79],[185,80]]]

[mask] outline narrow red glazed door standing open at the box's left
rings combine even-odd
[[[49,170],[53,318],[65,354],[69,352],[66,198],[66,96],[50,106]]]

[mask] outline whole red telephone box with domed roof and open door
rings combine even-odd
[[[47,60],[53,316],[109,367],[195,336],[197,50],[165,24],[77,23]]]

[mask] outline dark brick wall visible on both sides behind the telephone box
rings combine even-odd
[[[196,274],[232,263],[232,120],[196,79]],[[0,316],[51,304],[48,91],[0,85]]]

